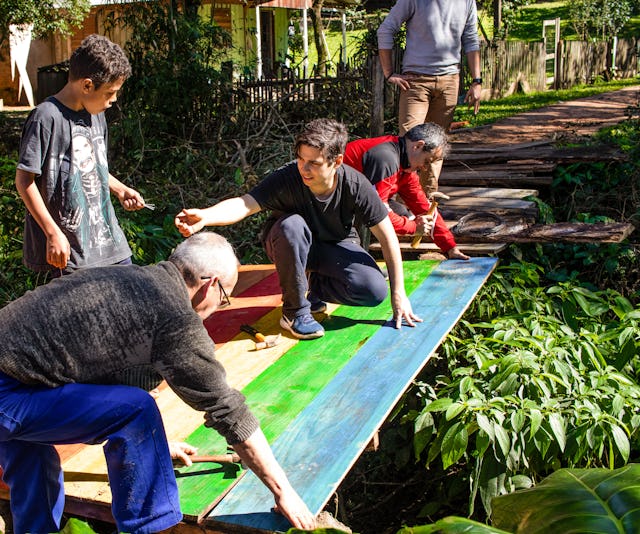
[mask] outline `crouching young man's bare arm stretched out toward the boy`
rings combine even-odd
[[[175,218],[178,231],[189,237],[205,226],[227,226],[241,221],[249,215],[258,213],[262,208],[251,195],[223,200],[205,209],[183,209]]]

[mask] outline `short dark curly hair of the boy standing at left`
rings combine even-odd
[[[89,78],[98,89],[131,76],[131,65],[122,48],[102,35],[85,37],[69,59],[69,79]]]

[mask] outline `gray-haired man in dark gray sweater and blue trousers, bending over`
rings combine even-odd
[[[0,465],[16,534],[61,528],[64,477],[54,448],[61,443],[104,442],[118,532],[180,522],[158,407],[118,379],[148,367],[204,412],[205,426],[272,491],[277,510],[296,527],[313,527],[244,397],[227,384],[202,323],[228,303],[237,263],[223,237],[205,232],[169,261],[77,271],[0,309]]]

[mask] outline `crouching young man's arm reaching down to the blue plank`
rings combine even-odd
[[[422,319],[413,314],[411,303],[404,290],[404,271],[402,269],[400,244],[389,217],[385,217],[381,222],[372,226],[370,230],[382,247],[382,255],[389,271],[391,307],[393,308],[395,327],[400,328],[403,319],[409,326],[415,326],[413,321],[421,322]]]

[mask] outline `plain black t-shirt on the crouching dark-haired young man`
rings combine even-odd
[[[301,215],[315,239],[337,243],[354,235],[355,220],[375,226],[387,216],[387,208],[363,174],[348,165],[336,172],[338,185],[327,199],[319,200],[304,185],[295,161],[271,173],[249,194],[275,216]]]

